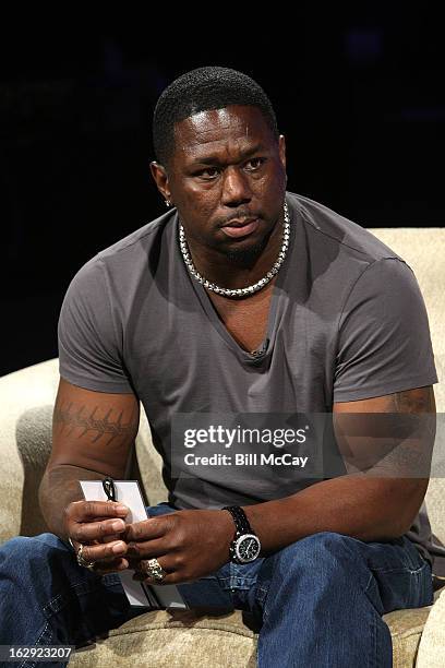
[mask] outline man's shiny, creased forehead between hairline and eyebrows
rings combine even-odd
[[[200,111],[175,126],[175,157],[199,158],[214,151],[274,141],[261,109],[233,105]]]

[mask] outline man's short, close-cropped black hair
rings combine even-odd
[[[229,68],[207,67],[185,72],[161,93],[153,117],[153,145],[156,160],[167,165],[175,150],[175,124],[211,109],[229,105],[253,106],[278,139],[278,127],[270,100],[253,79]]]

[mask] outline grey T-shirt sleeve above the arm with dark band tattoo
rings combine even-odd
[[[74,276],[62,303],[60,375],[87,390],[133,393],[118,341],[103,262],[94,258]]]

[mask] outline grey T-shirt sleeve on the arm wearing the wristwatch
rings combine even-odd
[[[376,260],[346,300],[338,329],[334,402],[437,382],[426,309],[412,270]]]

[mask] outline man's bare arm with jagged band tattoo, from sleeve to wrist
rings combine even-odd
[[[123,477],[139,418],[133,394],[92,392],[60,380],[52,451],[39,488],[41,512],[52,533],[67,538],[64,510],[83,499],[79,480]]]

